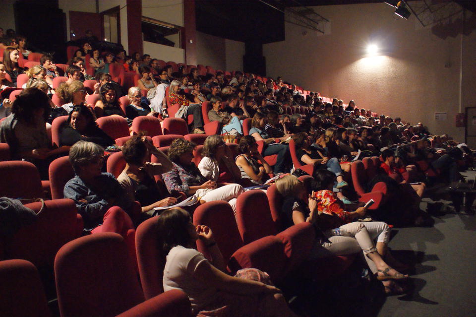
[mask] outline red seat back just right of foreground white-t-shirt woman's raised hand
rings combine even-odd
[[[243,246],[233,209],[226,201],[209,201],[199,205],[193,213],[193,224],[195,226],[205,225],[212,229],[215,242],[225,263],[235,251]],[[197,248],[207,258],[211,258],[208,248],[202,241],[197,240]]]

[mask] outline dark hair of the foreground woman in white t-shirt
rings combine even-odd
[[[190,214],[181,208],[172,208],[164,211],[157,219],[157,239],[164,255],[176,247],[188,248],[190,235],[188,226]]]

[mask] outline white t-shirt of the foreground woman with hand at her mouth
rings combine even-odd
[[[178,289],[185,292],[195,312],[217,299],[217,289],[195,277],[195,271],[203,261],[207,259],[195,249],[177,246],[167,255],[164,268],[164,291]]]

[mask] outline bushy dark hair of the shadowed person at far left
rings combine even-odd
[[[34,112],[41,108],[45,110],[43,119],[46,121],[51,111],[50,98],[40,89],[26,88],[16,97],[11,112],[18,120],[33,124],[35,121]]]

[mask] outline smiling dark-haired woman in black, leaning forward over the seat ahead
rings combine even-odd
[[[115,141],[97,126],[94,115],[84,105],[74,106],[68,121],[60,129],[60,144],[71,146],[78,141],[88,141],[108,147]]]

